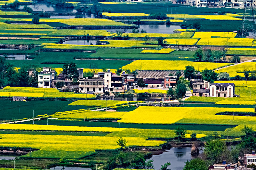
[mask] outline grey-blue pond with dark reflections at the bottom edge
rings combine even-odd
[[[154,169],[160,169],[161,165],[170,162],[169,169],[182,170],[187,160],[194,159],[190,153],[190,147],[173,147],[160,155],[153,155],[151,159],[154,160]]]

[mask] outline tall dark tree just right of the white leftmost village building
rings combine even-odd
[[[74,82],[78,80],[79,75],[75,63],[71,62],[68,64],[64,64],[62,73],[66,74],[67,78],[73,80]]]

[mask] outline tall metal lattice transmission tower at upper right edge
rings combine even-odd
[[[252,32],[252,36],[254,39],[256,39],[256,18],[254,13],[253,0],[245,0],[240,38],[243,39],[247,32]]]

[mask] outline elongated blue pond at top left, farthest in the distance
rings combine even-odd
[[[74,8],[63,8],[49,4],[35,4],[28,5],[29,8],[32,8],[33,11],[52,11],[56,13],[75,13],[76,10]],[[23,9],[24,5],[20,5],[20,9]]]

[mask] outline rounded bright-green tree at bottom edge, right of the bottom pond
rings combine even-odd
[[[187,162],[185,162],[185,166],[183,168],[183,170],[207,170],[207,166],[204,160],[200,159],[200,158],[196,158],[196,159],[192,159],[190,161],[187,160]]]

